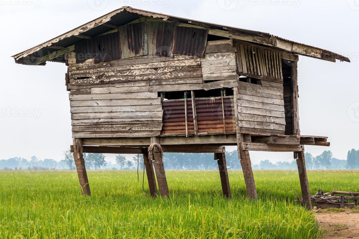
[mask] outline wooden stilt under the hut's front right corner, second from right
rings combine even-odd
[[[241,166],[244,176],[244,182],[246,182],[248,197],[252,200],[257,200],[257,189],[256,183],[254,182],[251,158],[249,156],[248,150],[243,150],[241,146],[238,147],[238,151],[242,156]]]

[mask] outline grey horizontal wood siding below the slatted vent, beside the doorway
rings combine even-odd
[[[283,85],[238,82],[238,123],[241,133],[284,134]]]

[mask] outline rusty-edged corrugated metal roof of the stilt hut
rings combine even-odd
[[[202,22],[202,21],[195,21],[195,20],[191,20],[191,19],[180,18],[177,16],[164,15],[164,14],[160,14],[160,13],[154,13],[154,12],[150,12],[150,11],[144,11],[144,10],[140,10],[140,9],[130,8],[128,6],[125,6],[120,9],[117,9],[115,11],[112,11],[111,13],[101,16],[100,18],[90,21],[89,23],[86,23],[84,25],[81,25],[80,27],[75,28],[67,33],[64,33],[64,34],[62,34],[58,37],[55,37],[47,42],[39,44],[36,47],[33,47],[26,51],[20,52],[18,54],[15,54],[12,57],[15,58],[15,62],[17,62],[17,63],[32,64],[32,62],[29,62],[28,56],[30,54],[32,56],[37,56],[37,57],[45,56],[46,54],[49,53],[49,51],[47,49],[49,46],[69,47],[69,46],[74,45],[76,42],[83,40],[82,38],[74,37],[75,35],[85,35],[88,37],[94,37],[96,35],[106,33],[112,29],[108,25],[103,25],[104,23],[112,24],[115,26],[120,26],[120,25],[130,23],[131,21],[139,19],[143,16],[150,16],[153,18],[162,18],[163,20],[172,20],[172,21],[176,21],[176,22],[180,22],[180,23],[199,25],[199,26],[206,27],[206,28],[219,29],[219,30],[225,30],[228,32],[247,34],[247,35],[257,36],[257,37],[266,38],[266,39],[273,38],[275,40],[275,38],[278,38],[278,39],[283,40],[288,43],[298,44],[300,46],[306,46],[306,47],[320,50],[320,51],[322,51],[322,54],[329,56],[327,58],[332,58],[334,60],[339,59],[340,61],[350,62],[350,59],[348,57],[342,56],[342,55],[334,53],[332,51],[328,51],[328,50],[325,50],[322,48],[313,47],[313,46],[309,46],[306,44],[287,40],[284,38],[276,37],[269,33],[252,31],[252,30],[247,30],[247,29],[242,29],[242,28],[228,27],[228,26],[224,26],[224,25],[206,23],[206,22]],[[45,48],[45,47],[47,47],[47,48]],[[57,50],[58,49],[55,49],[55,51],[57,51]],[[290,50],[287,50],[287,51],[290,52]],[[297,53],[297,52],[293,52],[293,53],[302,54],[304,56],[310,56],[306,53]],[[321,58],[321,57],[316,57],[316,58]],[[323,59],[326,59],[326,58],[323,58]]]

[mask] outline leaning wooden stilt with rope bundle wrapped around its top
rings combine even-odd
[[[153,166],[156,172],[159,193],[162,197],[166,196],[169,198],[167,179],[163,167],[162,152],[157,145],[153,146],[152,154],[154,160]]]

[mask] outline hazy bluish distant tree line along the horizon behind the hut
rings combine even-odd
[[[141,170],[144,168],[143,156],[135,155],[132,159],[126,159],[122,154],[115,157],[116,164],[107,162],[104,154],[84,153],[84,160],[87,169],[112,169],[112,170]],[[330,150],[325,150],[320,155],[313,157],[305,153],[307,169],[359,169],[359,150],[348,151],[347,159],[334,158]],[[227,167],[231,169],[242,169],[238,160],[237,150],[226,152]],[[213,153],[164,153],[163,162],[169,170],[213,170],[218,168]],[[252,164],[254,170],[295,170],[297,162],[272,163],[269,160],[262,160],[259,164]],[[30,159],[14,157],[0,160],[0,170],[75,170],[73,153],[66,150],[63,159],[58,162],[54,159],[39,160],[36,156]]]

